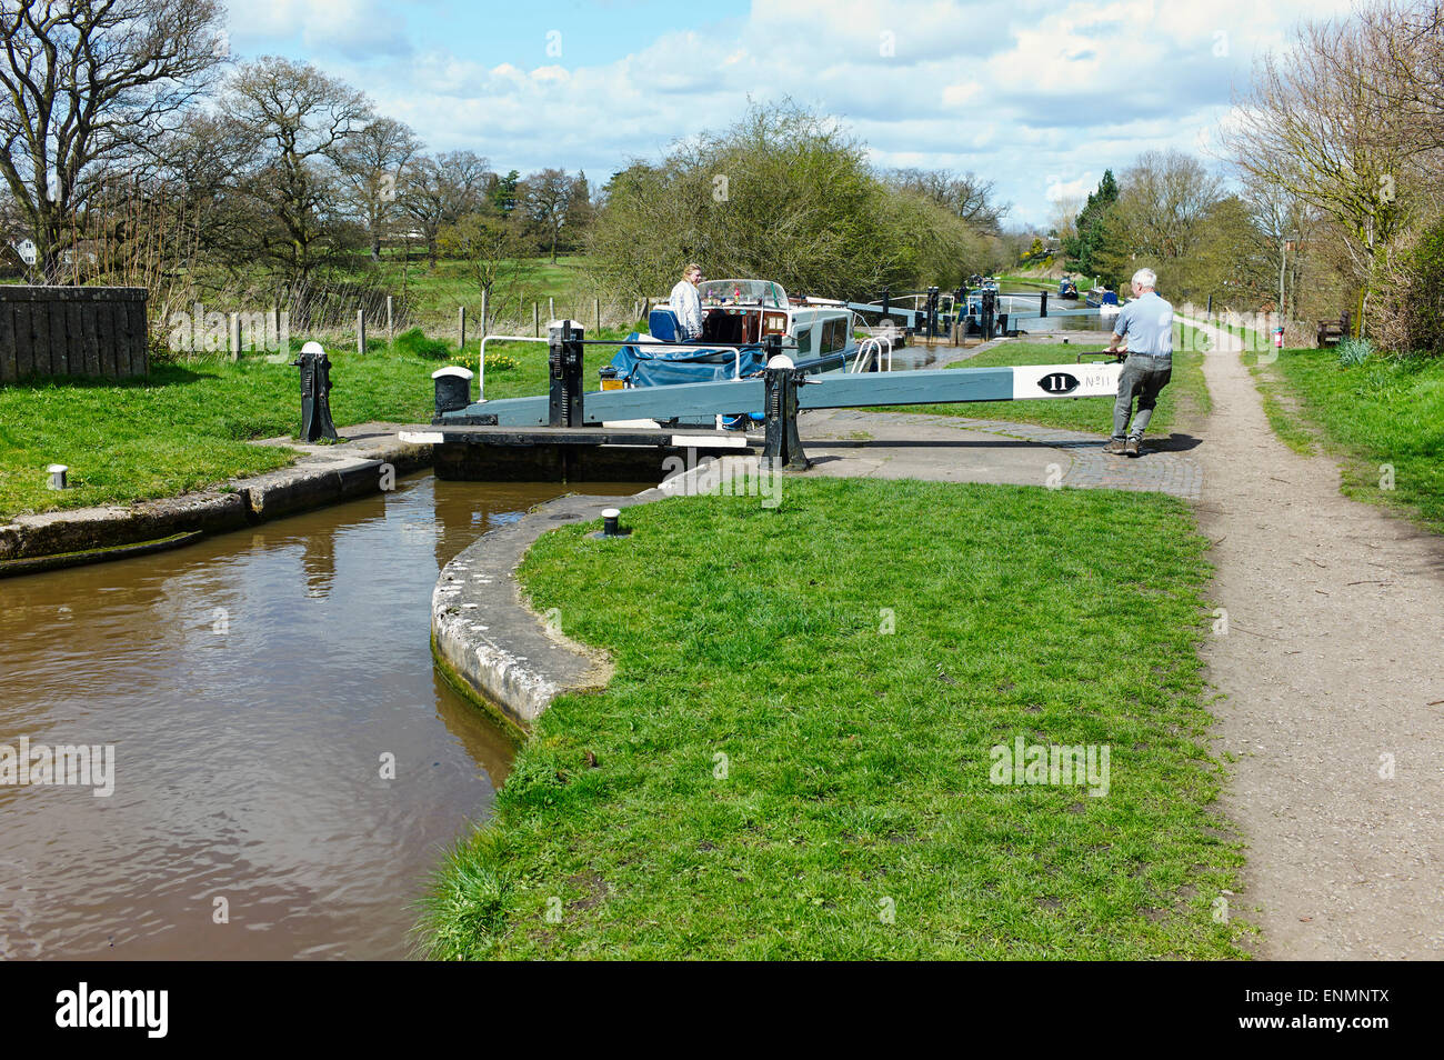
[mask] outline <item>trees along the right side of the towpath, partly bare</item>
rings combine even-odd
[[[1056,233],[1073,267],[1313,323],[1347,312],[1395,352],[1444,354],[1444,4],[1383,0],[1265,53],[1217,140],[1232,186],[1149,152]],[[1074,212],[1076,209],[1076,212]]]

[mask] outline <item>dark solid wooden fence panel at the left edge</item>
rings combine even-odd
[[[29,375],[144,375],[144,287],[0,284],[0,383]]]

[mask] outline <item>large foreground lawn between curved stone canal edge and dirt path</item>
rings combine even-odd
[[[523,565],[617,673],[446,858],[432,956],[1240,956],[1184,504],[788,478],[625,523]],[[1018,735],[1109,745],[1106,797],[989,783]]]

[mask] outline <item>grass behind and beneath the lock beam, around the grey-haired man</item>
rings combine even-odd
[[[1181,325],[1178,325],[1181,328]],[[1193,334],[1193,328],[1181,328]],[[1200,336],[1201,339],[1201,336]],[[949,368],[991,368],[1015,364],[1071,364],[1080,351],[1102,349],[1099,345],[1050,345],[1044,342],[1004,342],[976,357],[947,365]],[[1200,341],[1184,344],[1175,338],[1173,378],[1158,396],[1148,433],[1152,438],[1171,430],[1183,430],[1193,420],[1206,416],[1212,407],[1209,387],[1203,378]],[[967,401],[962,404],[913,404],[879,412],[915,412],[933,416],[963,416],[966,419],[1012,420],[1035,423],[1063,430],[1086,430],[1110,435],[1113,430],[1112,397],[1053,397],[1037,401]]]

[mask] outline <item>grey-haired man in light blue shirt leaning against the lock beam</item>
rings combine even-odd
[[[1118,377],[1113,403],[1113,438],[1103,452],[1138,456],[1148,420],[1152,419],[1158,393],[1173,378],[1173,306],[1154,292],[1158,276],[1152,269],[1134,273],[1134,300],[1118,312],[1110,354],[1128,352]],[[1134,416],[1134,397],[1138,414]],[[1128,419],[1132,416],[1132,427]]]

